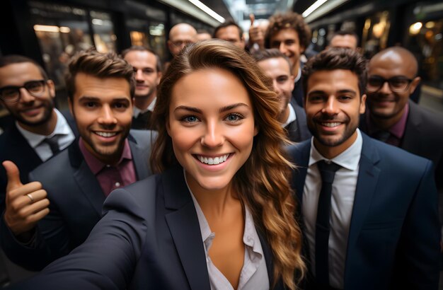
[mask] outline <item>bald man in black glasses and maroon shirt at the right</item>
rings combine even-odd
[[[362,131],[432,160],[443,194],[443,118],[410,101],[420,83],[417,60],[403,47],[390,47],[374,55],[368,69],[369,110],[360,122]]]

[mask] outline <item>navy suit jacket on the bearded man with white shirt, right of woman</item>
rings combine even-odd
[[[440,233],[432,163],[362,137],[344,288],[437,289]],[[310,149],[310,140],[289,147],[299,166],[293,187],[300,207]]]

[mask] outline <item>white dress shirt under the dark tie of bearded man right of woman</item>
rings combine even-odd
[[[315,274],[316,256],[316,219],[318,197],[321,190],[321,175],[316,163],[325,160],[333,161],[342,166],[336,173],[333,182],[330,201],[330,233],[329,233],[329,283],[330,286],[343,289],[345,276],[345,261],[347,238],[349,236],[352,207],[354,205],[355,189],[359,170],[359,161],[362,154],[362,134],[357,129],[357,139],[340,155],[327,159],[321,155],[313,145],[311,139],[311,152],[309,167],[304,182],[301,211],[304,217],[305,234],[309,242],[311,270]]]

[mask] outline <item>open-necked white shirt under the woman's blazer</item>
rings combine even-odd
[[[183,170],[185,175],[185,170]],[[186,180],[186,175],[185,175]],[[200,233],[202,233],[202,243],[205,246],[207,272],[209,274],[209,284],[212,290],[234,290],[224,274],[217,269],[209,257],[209,248],[211,248],[212,240],[215,233],[209,228],[205,214],[203,214],[200,204],[195,199],[188,181],[186,181],[188,190],[194,202],[195,211],[197,211],[198,223],[200,224]],[[243,232],[243,243],[245,245],[245,256],[243,267],[241,268],[240,279],[238,280],[238,290],[265,290],[270,289],[269,277],[267,277],[267,267],[263,248],[255,230],[253,217],[248,207],[245,206],[245,229]]]

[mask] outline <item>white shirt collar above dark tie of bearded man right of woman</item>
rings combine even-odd
[[[349,170],[357,170],[358,164],[360,161],[360,156],[362,154],[362,146],[363,139],[360,130],[357,129],[357,139],[355,139],[354,143],[349,146],[345,151],[340,153],[338,156],[335,156],[332,159],[328,159],[321,155],[320,152],[317,151],[316,146],[313,144],[313,138],[311,139],[311,153],[309,155],[309,166],[317,163],[318,161],[326,160],[333,161],[333,163],[342,166],[343,168],[347,168]]]

